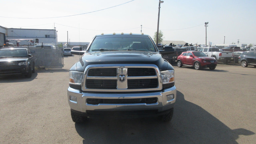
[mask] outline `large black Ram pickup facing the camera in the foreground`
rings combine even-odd
[[[174,68],[148,35],[95,36],[70,68],[69,80],[68,103],[76,123],[94,116],[172,119]]]

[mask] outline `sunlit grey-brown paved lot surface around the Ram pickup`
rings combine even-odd
[[[32,78],[0,78],[0,144],[255,144],[256,68],[175,68],[177,100],[169,123],[157,118],[88,119],[75,124],[68,106],[68,69]]]

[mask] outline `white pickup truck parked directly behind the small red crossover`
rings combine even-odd
[[[216,60],[227,63],[233,60],[233,52],[220,52],[218,48],[201,48],[200,52],[204,52],[208,57],[214,57]]]

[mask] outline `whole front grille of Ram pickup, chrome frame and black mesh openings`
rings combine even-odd
[[[86,67],[84,91],[133,92],[161,90],[159,70],[155,65]]]

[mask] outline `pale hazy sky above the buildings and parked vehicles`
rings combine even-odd
[[[154,37],[159,0],[0,0],[0,26],[54,29],[58,42],[90,42],[97,34]],[[164,40],[192,44],[256,44],[256,0],[164,0],[159,30]],[[76,16],[71,16],[76,15]]]

